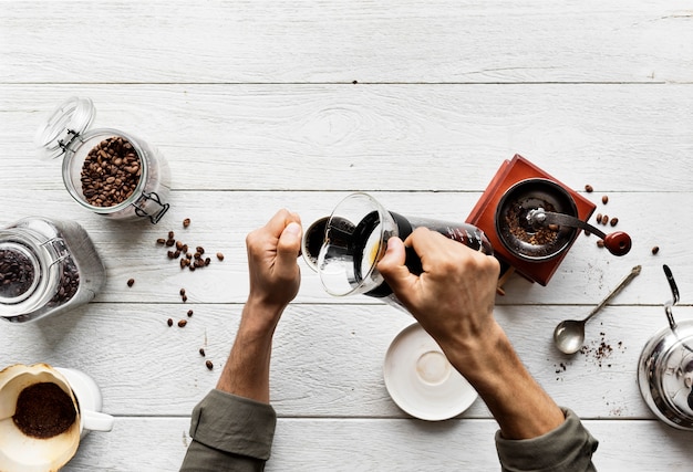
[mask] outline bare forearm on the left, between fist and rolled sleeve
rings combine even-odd
[[[217,389],[269,403],[272,336],[282,311],[248,300]]]

